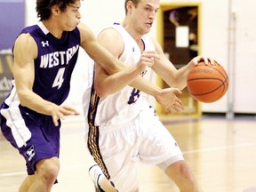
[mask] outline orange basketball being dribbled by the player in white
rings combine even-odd
[[[228,74],[216,61],[206,65],[201,61],[193,67],[187,77],[189,94],[204,103],[220,100],[228,91]]]

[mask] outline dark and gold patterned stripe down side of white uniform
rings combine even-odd
[[[93,87],[93,85],[92,85]],[[100,130],[99,126],[94,125],[94,120],[97,112],[97,107],[99,103],[100,97],[94,92],[93,88],[91,91],[91,98],[90,98],[90,105],[88,111],[88,123],[89,123],[89,132],[88,132],[88,148],[91,155],[94,158],[94,161],[100,166],[102,172],[105,176],[110,179],[110,175],[108,173],[108,169],[106,164],[103,161],[103,158],[100,154],[100,147],[99,147],[99,137],[100,137]]]

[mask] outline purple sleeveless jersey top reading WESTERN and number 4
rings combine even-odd
[[[33,92],[60,105],[68,97],[76,65],[80,44],[78,28],[64,32],[61,39],[52,36],[43,23],[25,28],[21,33],[29,33],[37,44]]]

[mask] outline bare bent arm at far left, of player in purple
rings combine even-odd
[[[52,116],[55,125],[63,116],[77,115],[74,108],[60,107],[44,100],[32,90],[35,79],[34,59],[37,56],[35,40],[28,34],[20,35],[14,44],[13,76],[20,99],[20,105],[30,108],[37,113]]]

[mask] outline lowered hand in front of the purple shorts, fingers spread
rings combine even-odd
[[[54,105],[52,108],[52,121],[55,126],[59,125],[59,119],[64,119],[65,116],[77,116],[79,112],[75,108],[70,108],[68,106],[58,106]]]

